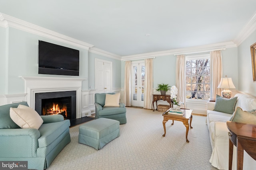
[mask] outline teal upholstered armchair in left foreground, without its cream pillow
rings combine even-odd
[[[70,120],[62,115],[41,116],[43,124],[37,129],[21,129],[10,118],[10,107],[19,102],[0,106],[0,160],[28,161],[28,169],[44,170],[58,153],[70,143]]]

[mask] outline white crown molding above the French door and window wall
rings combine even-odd
[[[145,57],[203,53],[203,52],[209,52],[209,51],[224,50],[226,48],[233,48],[233,47],[237,47],[237,45],[234,42],[229,41],[224,43],[200,45],[200,46],[194,46],[194,47],[186,47],[186,48],[158,51],[158,52],[152,52],[152,53],[144,53],[144,54],[138,54],[138,55],[128,55],[128,56],[123,56],[122,61],[135,60],[135,59],[138,60],[140,58],[143,59]]]

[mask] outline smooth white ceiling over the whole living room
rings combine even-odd
[[[0,0],[2,14],[119,56],[234,41],[255,12],[256,0]]]

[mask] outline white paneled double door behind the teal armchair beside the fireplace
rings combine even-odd
[[[112,88],[112,62],[95,59],[96,77],[95,87],[97,93],[110,93]]]

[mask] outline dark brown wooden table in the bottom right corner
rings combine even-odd
[[[236,169],[242,170],[244,163],[244,150],[256,160],[256,125],[227,121],[229,136],[228,169],[232,170],[233,145],[237,149]]]

